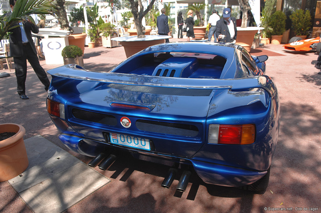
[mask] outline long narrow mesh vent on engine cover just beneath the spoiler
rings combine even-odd
[[[212,89],[185,89],[169,87],[150,87],[125,84],[109,84],[108,87],[122,89],[134,92],[152,93],[159,95],[177,95],[177,96],[210,96]]]

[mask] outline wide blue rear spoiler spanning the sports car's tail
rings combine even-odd
[[[116,72],[98,72],[85,70],[76,64],[68,64],[48,71],[52,77],[76,79],[82,81],[95,81],[127,85],[143,85],[152,87],[171,87],[185,89],[265,89],[271,96],[275,86],[270,77],[266,75],[239,79],[192,79],[159,77]]]

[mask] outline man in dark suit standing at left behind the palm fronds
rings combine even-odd
[[[15,3],[15,0],[9,0],[12,11]],[[47,77],[47,73],[40,66],[39,58],[37,56],[37,50],[31,38],[31,31],[34,33],[38,33],[38,27],[34,25],[30,20],[24,21],[23,23],[19,22],[19,25],[21,27],[12,29],[12,33],[9,35],[10,52],[11,56],[13,56],[18,85],[18,94],[22,99],[29,99],[29,97],[25,93],[25,83],[27,78],[27,59],[31,64],[33,70],[36,72],[39,80],[45,86],[46,91],[48,91],[50,81]]]

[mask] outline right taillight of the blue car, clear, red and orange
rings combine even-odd
[[[210,124],[208,142],[216,144],[251,144],[255,140],[255,125]]]

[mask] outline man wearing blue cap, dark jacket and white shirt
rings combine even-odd
[[[231,42],[236,41],[236,19],[231,17],[231,9],[225,8],[223,10],[223,18],[216,22],[215,34],[220,42]]]

